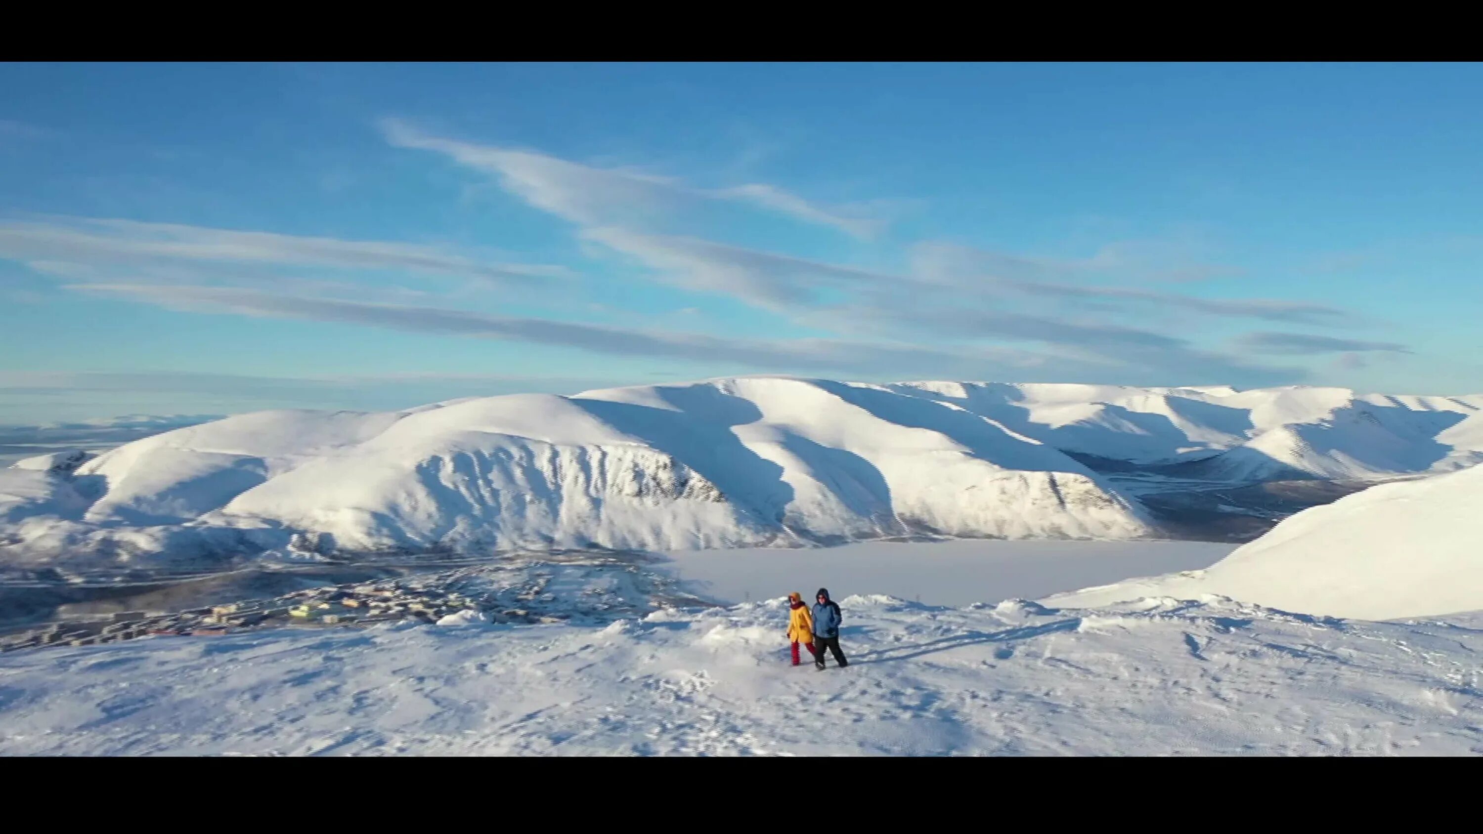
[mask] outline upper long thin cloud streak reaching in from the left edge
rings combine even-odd
[[[437,273],[488,283],[540,283],[567,270],[538,264],[489,264],[435,246],[303,237],[107,218],[52,218],[0,224],[0,259],[37,264],[53,274],[79,267],[212,262],[343,270]]]

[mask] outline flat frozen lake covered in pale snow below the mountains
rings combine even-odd
[[[706,550],[664,554],[658,566],[725,603],[799,591],[813,597],[890,594],[942,606],[1034,600],[1134,576],[1209,567],[1225,542],[949,541],[863,542],[820,550]]]

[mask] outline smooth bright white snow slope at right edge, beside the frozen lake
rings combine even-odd
[[[1329,616],[1483,609],[1483,467],[1370,487],[1283,520],[1206,570],[1060,594],[1057,606],[1221,594]]]

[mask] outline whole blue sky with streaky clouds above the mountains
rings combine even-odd
[[[1483,391],[1483,65],[0,65],[0,422]]]

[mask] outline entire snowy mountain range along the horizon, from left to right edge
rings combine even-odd
[[[1480,412],[1483,396],[795,378],[258,412],[0,471],[0,558],[1142,538],[1157,523],[1109,468],[1449,471],[1483,461]]]

